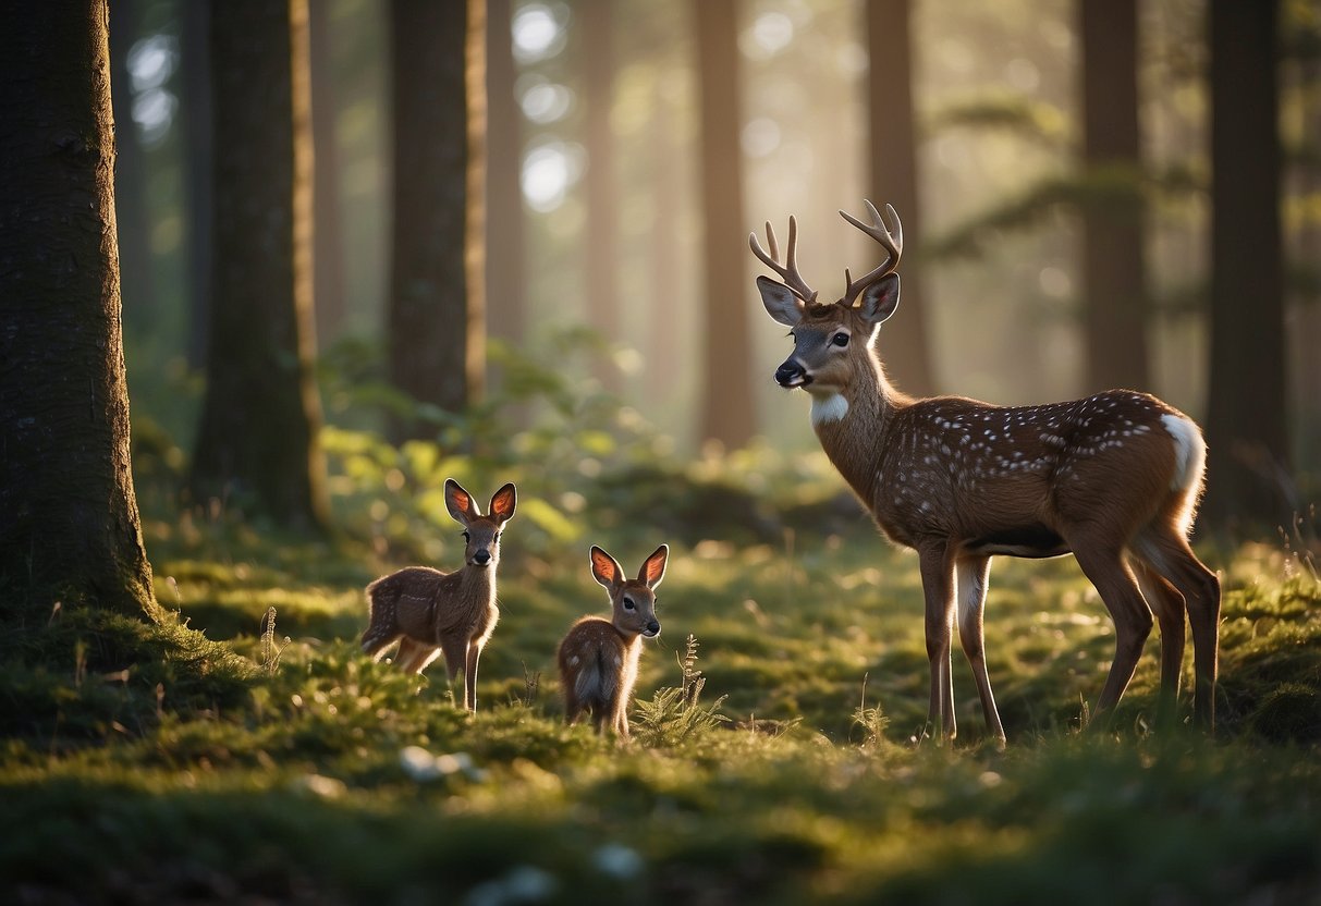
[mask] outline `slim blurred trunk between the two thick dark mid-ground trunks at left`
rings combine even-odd
[[[339,133],[334,91],[334,54],[330,46],[330,4],[308,7],[312,52],[312,145],[314,153],[312,310],[316,339],[326,349],[343,330],[347,316],[343,285],[343,230],[339,221]]]

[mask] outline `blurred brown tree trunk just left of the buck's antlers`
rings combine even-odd
[[[704,238],[700,437],[732,449],[757,431],[742,203],[738,3],[692,0],[701,96],[699,157]]]

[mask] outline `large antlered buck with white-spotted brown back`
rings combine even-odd
[[[769,222],[769,254],[756,231],[749,246],[779,277],[758,276],[757,289],[794,343],[775,382],[811,398],[812,429],[835,469],[885,538],[917,552],[931,672],[927,733],[942,744],[958,730],[950,663],[956,613],[988,733],[1004,746],[983,638],[991,559],[1065,553],[1115,623],[1115,655],[1090,725],[1108,725],[1153,614],[1161,638],[1157,716],[1173,720],[1186,614],[1194,722],[1213,733],[1221,589],[1188,540],[1206,468],[1201,429],[1174,407],[1131,390],[1044,405],[904,394],[876,350],[880,328],[900,302],[904,227],[890,205],[893,226],[864,203],[871,223],[839,214],[886,256],[857,280],[845,269],[844,293],[834,302],[816,301],[798,268],[793,217],[783,261]]]

